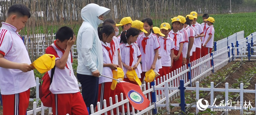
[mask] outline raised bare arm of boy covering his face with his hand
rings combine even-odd
[[[67,42],[67,48],[63,54],[63,56],[59,59],[55,61],[55,66],[58,67],[59,69],[64,69],[67,61],[68,61],[68,57],[69,57],[69,52],[71,50],[72,45],[75,43],[76,41],[76,37],[74,35],[73,39],[71,40],[72,37],[69,38],[68,42]]]

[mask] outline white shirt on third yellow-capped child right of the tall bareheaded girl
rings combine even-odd
[[[177,38],[177,41],[176,41],[176,46],[175,46],[175,50],[177,50],[177,51],[179,51],[179,49],[180,49],[180,43],[185,43],[185,41],[184,41],[184,37],[183,37],[183,34],[180,32],[180,31],[177,31],[176,32],[176,38]],[[174,45],[175,45],[175,40],[173,39],[174,38],[174,32],[173,32],[173,30],[171,30],[170,32],[169,32],[169,36],[170,36],[170,38],[172,38],[172,40],[174,41]]]

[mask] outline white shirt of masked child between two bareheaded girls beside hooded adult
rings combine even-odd
[[[112,56],[113,56],[113,64],[118,64],[118,51],[119,51],[119,48],[120,48],[120,46],[119,46],[119,43],[118,43],[118,41],[117,41],[117,37],[116,36],[113,36],[113,39],[112,39],[113,41],[114,41],[114,45],[115,45],[115,48],[111,48],[111,46],[110,46],[110,43],[106,43],[107,44],[107,46],[108,47],[110,47],[111,49],[110,49],[110,53],[112,54],[112,50],[114,50],[114,54],[112,54]],[[113,46],[114,46],[113,45]],[[122,66],[122,65],[120,65],[120,66]]]

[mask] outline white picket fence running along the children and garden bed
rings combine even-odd
[[[236,37],[233,37],[233,35],[236,35]],[[244,31],[238,32],[236,34],[233,34],[230,39],[229,42],[234,42],[234,44],[236,44],[236,41],[241,41],[244,39],[244,37],[242,35],[244,35]],[[253,34],[255,35],[255,34]],[[251,35],[251,36],[253,36]],[[231,39],[232,38],[232,39]],[[234,41],[234,38],[236,38],[236,40]],[[237,39],[239,38],[239,39]],[[251,37],[252,39],[253,37]],[[248,39],[247,39],[248,40]],[[247,41],[248,42],[248,41]],[[158,92],[158,94],[156,93],[152,93],[155,94],[156,97],[156,102],[152,102],[150,103],[150,105],[148,106],[148,108],[142,110],[142,111],[135,111],[134,108],[132,107],[132,110],[124,110],[124,106],[128,106],[127,108],[129,108],[129,100],[128,99],[123,99],[123,95],[124,94],[120,94],[121,96],[121,100],[118,100],[118,95],[115,96],[115,100],[117,103],[113,103],[113,99],[110,98],[110,106],[106,107],[106,101],[103,101],[103,103],[97,103],[97,108],[98,111],[94,113],[94,107],[93,105],[90,106],[90,110],[92,115],[99,115],[99,114],[103,114],[108,111],[111,112],[111,115],[113,115],[114,110],[116,110],[117,114],[119,114],[119,111],[122,114],[125,114],[125,111],[127,111],[128,114],[132,113],[132,114],[136,114],[136,115],[142,115],[142,114],[152,114],[154,112],[155,109],[158,108],[162,108],[162,107],[166,107],[167,110],[169,110],[169,99],[175,99],[177,98],[177,96],[180,95],[180,89],[178,89],[178,87],[180,86],[180,79],[184,80],[184,85],[185,86],[191,86],[196,84],[196,87],[186,87],[186,90],[196,90],[197,96],[199,95],[199,91],[211,91],[211,104],[212,104],[212,99],[213,98],[213,94],[214,91],[222,91],[222,92],[251,92],[251,93],[255,93],[255,90],[243,90],[243,89],[228,89],[228,87],[226,89],[216,89],[213,88],[211,85],[211,88],[199,88],[199,82],[204,79],[206,76],[210,75],[212,73],[212,71],[217,71],[220,68],[222,68],[223,66],[225,66],[226,64],[228,64],[229,61],[232,60],[233,57],[236,57],[237,55],[235,55],[235,52],[233,52],[234,50],[238,49],[237,47],[232,47],[231,43],[230,46],[228,45],[228,39],[222,39],[220,41],[217,41],[217,51],[212,52],[211,54],[208,54],[204,57],[201,57],[200,59],[197,59],[196,61],[193,61],[192,63],[188,64],[188,65],[184,65],[181,68],[177,69],[176,71],[169,73],[169,75],[163,76],[158,80],[155,80],[155,86],[150,86],[150,83],[148,84],[143,84],[141,85],[141,89],[144,93],[145,96],[148,96],[147,98],[151,101],[151,93],[152,92]],[[241,42],[240,42],[241,43]],[[224,45],[225,44],[225,45]],[[225,46],[225,47],[224,47]],[[256,47],[255,47],[256,48]],[[246,47],[245,47],[246,49]],[[212,66],[214,65],[214,66]],[[189,78],[191,77],[191,81],[189,80]],[[39,85],[39,81],[37,80],[37,85]],[[79,84],[80,86],[80,84]],[[146,90],[146,87],[148,88],[148,90]],[[160,93],[160,91],[162,92],[162,94]],[[241,95],[241,98],[243,99],[243,94]],[[228,93],[226,93],[228,94]],[[227,96],[226,96],[227,97]],[[198,97],[197,97],[198,99]],[[30,99],[30,101],[32,101],[33,99]],[[154,100],[154,99],[153,99]],[[100,110],[100,105],[103,104],[104,109]],[[41,107],[36,107],[37,106],[37,102],[33,103],[34,108],[33,110],[30,110],[27,112],[27,115],[33,114],[35,115],[35,113],[39,112],[39,111],[43,111],[45,109],[49,109],[49,111],[51,111],[51,108],[47,108],[44,107],[43,104],[41,104]],[[171,104],[172,106],[179,106],[179,104]],[[189,106],[189,104],[187,104],[187,106]],[[192,107],[196,107],[195,105]],[[216,107],[213,106],[213,108],[220,108],[220,107]],[[233,107],[226,107],[228,109],[234,109]],[[251,108],[250,110],[255,110],[254,108]],[[243,111],[243,110],[240,110]],[[198,110],[196,110],[196,112],[198,112]],[[41,113],[43,115],[43,112]],[[227,114],[227,113],[226,113]]]

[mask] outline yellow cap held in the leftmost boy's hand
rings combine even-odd
[[[52,54],[44,54],[30,65],[34,66],[40,73],[45,73],[54,67],[55,58]]]

